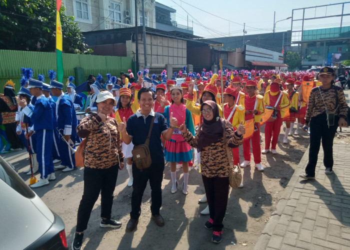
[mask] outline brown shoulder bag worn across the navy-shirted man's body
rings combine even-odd
[[[152,164],[152,159],[150,157],[150,151],[149,151],[149,138],[150,133],[152,131],[154,122],[154,116],[152,117],[150,121],[149,131],[147,138],[144,142],[144,144],[140,144],[137,146],[134,146],[131,153],[132,153],[132,160],[135,163],[136,167],[140,170],[144,168],[148,168],[150,164]]]

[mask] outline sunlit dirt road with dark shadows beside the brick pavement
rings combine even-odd
[[[261,149],[264,145],[263,127],[260,133]],[[269,152],[262,155],[261,163],[265,170],[257,171],[251,161],[251,167],[243,168],[244,187],[230,190],[221,243],[211,242],[212,232],[203,226],[208,215],[199,214],[206,207],[206,203],[198,203],[198,199],[204,194],[200,173],[196,169],[189,172],[188,195],[183,195],[182,170],[178,170],[178,191],[171,194],[170,169],[166,165],[160,210],[165,226],[158,227],[150,219],[150,188],[147,185],[137,229],[131,233],[125,231],[131,207],[132,187],[126,186],[128,175],[126,169],[123,169],[118,174],[112,207],[112,216],[119,219],[122,226],[119,229],[99,227],[98,199],[84,232],[83,249],[253,249],[265,223],[275,210],[280,193],[308,146],[309,135],[301,129],[299,135],[288,136],[288,144],[281,143],[284,130],[283,124],[277,144],[278,154],[272,155]],[[349,134],[345,129],[335,140],[350,143],[350,136],[347,136]],[[3,154],[3,157],[28,182],[28,175],[22,173],[28,166],[27,153],[22,150]],[[240,162],[242,161],[240,147]],[[77,208],[82,195],[82,176],[81,168],[65,173],[56,171],[56,180],[51,181],[48,186],[34,189],[47,206],[63,219],[68,245],[72,242]]]

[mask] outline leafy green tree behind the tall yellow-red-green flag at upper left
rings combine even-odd
[[[59,11],[63,52],[91,53],[74,17]],[[0,49],[52,52],[55,50],[55,0],[0,0]]]

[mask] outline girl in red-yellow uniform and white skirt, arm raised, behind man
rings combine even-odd
[[[135,96],[136,98],[134,101],[131,101],[131,89],[122,87],[119,89],[119,99],[118,99],[118,109],[115,111],[114,118],[116,122],[119,124],[122,122],[122,117],[125,117],[125,120],[127,120],[132,114],[134,114],[137,109],[139,108],[138,100],[137,100],[137,94],[138,90],[141,88],[142,84],[142,78],[141,75],[138,75],[138,81],[135,88]],[[126,170],[129,174],[129,181],[127,182],[127,186],[132,186],[133,177],[132,177],[132,149],[133,144],[130,142],[130,144],[125,144],[125,142],[122,141],[122,137],[120,135],[121,139],[121,146],[122,151],[124,153],[124,157],[126,158]]]

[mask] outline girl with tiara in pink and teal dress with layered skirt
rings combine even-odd
[[[178,127],[184,123],[188,130],[194,135],[194,126],[192,114],[183,104],[181,87],[174,85],[171,87],[170,92],[171,104],[165,107],[167,101],[164,97],[162,97],[160,100],[160,107],[158,107],[156,111],[165,116],[168,126],[170,113],[172,113],[172,117],[177,119],[177,126],[173,127],[173,133],[170,140],[165,141],[164,154],[165,160],[170,162],[170,174],[172,181],[171,193],[175,193],[177,191],[176,162],[181,161],[183,170],[182,193],[187,195],[188,161],[192,159],[192,151],[191,146],[183,139]]]

